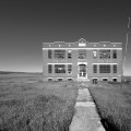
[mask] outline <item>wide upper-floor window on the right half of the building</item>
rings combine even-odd
[[[110,49],[99,50],[99,58],[100,59],[110,59]]]

